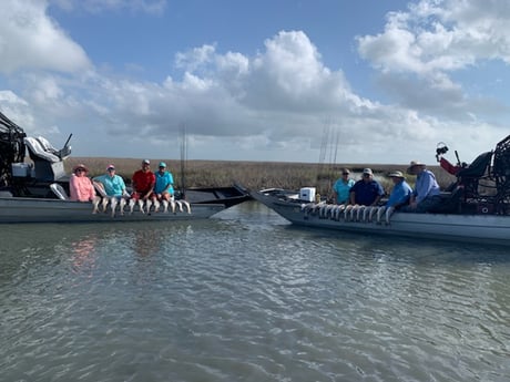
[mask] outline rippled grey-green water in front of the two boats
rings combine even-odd
[[[6,381],[504,381],[502,248],[204,221],[0,231]]]

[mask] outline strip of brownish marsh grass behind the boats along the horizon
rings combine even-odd
[[[183,180],[181,162],[162,161],[167,164],[176,188],[180,188]],[[160,159],[151,159],[152,171],[157,169],[159,162]],[[118,175],[122,176],[126,184],[131,183],[131,176],[141,167],[141,159],[137,158],[71,157],[65,162],[65,171],[71,173],[72,167],[79,163],[89,167],[91,177],[104,174],[106,166],[112,163],[115,165]],[[407,165],[336,164],[326,166],[287,162],[187,161],[184,184],[186,187],[221,187],[238,183],[249,189],[316,187],[320,195],[330,195],[332,185],[340,176],[343,167],[349,168],[356,180],[365,167],[370,167],[385,190],[389,193],[392,183],[387,174],[397,169],[406,173]],[[455,180],[453,176],[438,166],[430,165],[428,168],[436,174],[441,188]],[[406,178],[414,186],[415,177],[406,175]]]

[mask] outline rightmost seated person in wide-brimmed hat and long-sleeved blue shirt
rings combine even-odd
[[[441,204],[440,188],[436,176],[424,163],[412,161],[407,173],[416,175],[415,189],[409,199],[409,206],[402,208],[408,213],[427,213]]]

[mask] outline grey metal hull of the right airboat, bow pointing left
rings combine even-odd
[[[349,219],[322,216],[306,203],[285,200],[273,195],[252,193],[253,198],[288,221],[306,227],[336,229],[365,235],[405,236],[478,244],[510,245],[510,216],[394,213],[389,220]],[[309,206],[310,204],[308,204]]]

